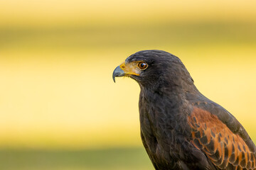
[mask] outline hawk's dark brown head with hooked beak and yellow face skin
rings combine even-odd
[[[161,50],[136,52],[113,72],[115,77],[131,77],[147,89],[191,89],[193,79],[178,57]]]

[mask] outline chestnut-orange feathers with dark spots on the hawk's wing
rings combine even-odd
[[[201,149],[219,169],[256,169],[255,152],[217,115],[194,107],[188,124],[192,129],[193,145]]]

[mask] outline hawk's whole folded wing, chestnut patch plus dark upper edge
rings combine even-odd
[[[191,100],[188,116],[193,145],[201,149],[219,169],[256,169],[256,148],[245,128],[217,103],[204,96]]]

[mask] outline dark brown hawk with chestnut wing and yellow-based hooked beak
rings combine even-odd
[[[198,91],[175,55],[136,52],[114,69],[116,77],[140,86],[140,135],[154,169],[256,169],[256,147],[245,128]]]

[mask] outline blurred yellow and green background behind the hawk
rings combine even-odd
[[[0,169],[153,169],[139,86],[112,71],[139,50],[181,58],[256,142],[256,1],[0,1]]]

